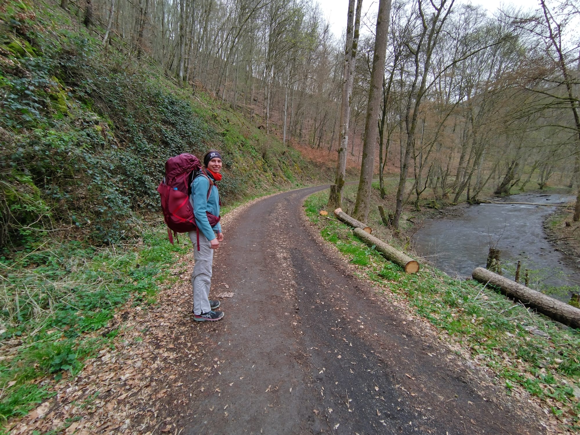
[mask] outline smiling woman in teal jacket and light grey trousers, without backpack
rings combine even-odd
[[[195,266],[191,274],[193,287],[193,314],[196,321],[218,321],[223,311],[216,311],[219,300],[209,300],[212,278],[213,250],[218,249],[223,240],[219,223],[219,193],[216,181],[222,179],[222,155],[209,150],[204,157],[204,166],[191,182],[190,201],[193,203],[197,231],[190,231],[189,238],[194,245]]]

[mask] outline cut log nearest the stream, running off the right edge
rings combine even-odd
[[[525,287],[525,285],[508,280],[483,267],[477,267],[472,276],[474,280],[483,284],[493,285],[509,298],[516,300],[516,302],[521,302],[553,320],[572,328],[580,328],[580,309],[578,308],[550,298],[550,296]]]

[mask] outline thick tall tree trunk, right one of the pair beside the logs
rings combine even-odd
[[[375,49],[372,58],[371,86],[368,92],[367,116],[365,117],[364,140],[362,143],[361,175],[358,182],[354,216],[367,220],[371,206],[372,175],[375,169],[376,136],[379,130],[379,103],[385,77],[385,58],[389,36],[391,0],[379,0],[376,17]]]

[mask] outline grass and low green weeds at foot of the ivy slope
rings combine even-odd
[[[75,375],[85,358],[113,346],[118,329],[106,327],[115,309],[155,303],[176,255],[187,249],[154,227],[124,244],[38,242],[17,259],[2,259],[0,419],[26,415],[52,394],[47,377]]]

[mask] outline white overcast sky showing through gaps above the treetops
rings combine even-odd
[[[346,13],[349,6],[348,0],[314,0],[318,1],[320,8],[322,9],[322,14],[324,17],[330,21],[331,31],[337,38],[340,37],[342,32],[346,28]],[[536,7],[535,0],[471,0],[471,1],[461,1],[462,3],[472,3],[473,5],[482,5],[490,13],[494,13],[499,7],[514,5],[522,8],[534,8]],[[376,14],[376,10],[379,7],[379,2],[377,0],[363,0],[362,2],[362,14],[367,13],[369,17]],[[361,29],[362,30],[362,29]]]

